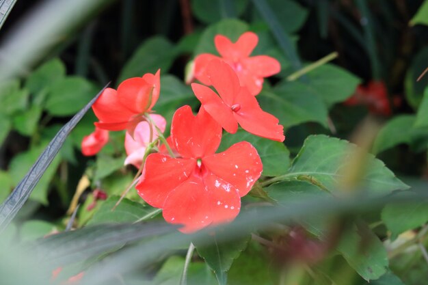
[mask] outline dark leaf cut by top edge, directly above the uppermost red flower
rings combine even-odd
[[[247,7],[248,0],[230,1],[230,5],[237,12],[236,16],[239,16]],[[228,15],[222,9],[222,0],[192,0],[191,10],[198,20],[206,24],[218,22],[222,18],[228,18]]]

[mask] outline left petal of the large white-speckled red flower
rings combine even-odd
[[[172,159],[165,154],[150,154],[135,188],[148,204],[163,208],[171,191],[183,184],[195,167],[195,159]]]

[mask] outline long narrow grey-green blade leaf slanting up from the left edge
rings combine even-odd
[[[77,113],[65,126],[61,128],[49,145],[44,149],[42,154],[40,154],[40,157],[38,157],[29,172],[25,174],[23,180],[21,180],[21,182],[16,186],[14,192],[7,200],[5,200],[5,202],[3,202],[3,204],[0,205],[0,232],[8,226],[25,201],[27,201],[29,195],[34,190],[34,187],[36,187],[46,169],[52,163],[53,159],[55,159],[72,128],[76,126],[83,115],[90,109],[103,90],[101,90],[101,92],[99,92],[98,95],[88,103],[88,105],[81,109],[79,113]]]

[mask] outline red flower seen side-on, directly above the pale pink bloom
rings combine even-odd
[[[133,130],[144,113],[151,111],[161,89],[160,70],[120,83],[118,91],[107,88],[92,109],[99,122],[95,125],[109,131]]]

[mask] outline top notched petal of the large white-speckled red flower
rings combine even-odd
[[[174,113],[171,137],[182,157],[197,159],[217,150],[222,140],[222,126],[203,108],[193,116],[191,107],[186,105]]]

